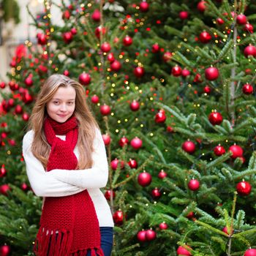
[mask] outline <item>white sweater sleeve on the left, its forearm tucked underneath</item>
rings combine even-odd
[[[54,178],[53,174],[46,172],[42,163],[31,152],[31,143],[34,132],[29,131],[23,138],[23,157],[26,163],[26,173],[34,193],[39,197],[61,197],[82,192],[81,187],[67,184]]]

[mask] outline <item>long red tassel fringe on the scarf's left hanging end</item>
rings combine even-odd
[[[58,233],[56,233],[58,232]],[[40,227],[34,244],[37,256],[69,256],[73,234],[67,230],[48,230]]]

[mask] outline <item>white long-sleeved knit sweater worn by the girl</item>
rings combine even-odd
[[[58,136],[65,140],[65,135]],[[42,163],[31,152],[34,132],[29,131],[23,138],[23,157],[26,173],[34,193],[39,197],[61,197],[74,195],[87,189],[99,219],[99,227],[113,227],[113,218],[105,196],[100,188],[108,182],[108,160],[102,135],[97,129],[94,138],[93,165],[85,170],[51,170],[46,172]],[[78,148],[74,153],[78,157]]]

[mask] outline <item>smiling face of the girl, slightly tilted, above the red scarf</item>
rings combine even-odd
[[[75,110],[75,89],[72,86],[59,87],[53,98],[46,105],[50,118],[64,123]]]

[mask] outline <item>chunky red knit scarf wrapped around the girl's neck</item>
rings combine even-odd
[[[47,171],[75,170],[78,159],[74,148],[78,141],[75,117],[65,123],[46,118],[45,136],[51,146]],[[66,135],[66,140],[56,135]],[[84,190],[64,197],[45,197],[40,227],[34,246],[38,256],[104,256],[100,248],[99,222],[89,192]]]

